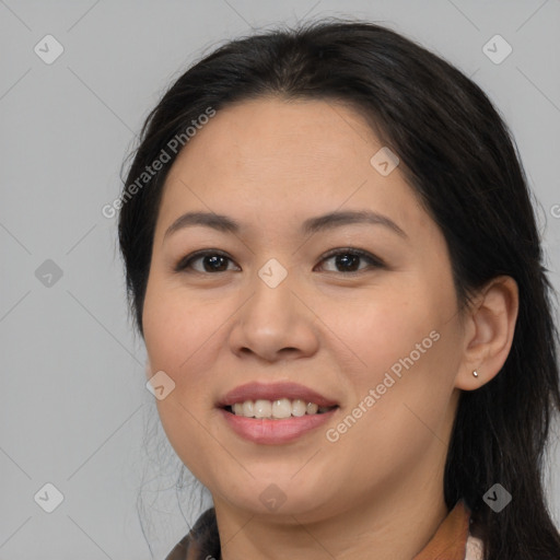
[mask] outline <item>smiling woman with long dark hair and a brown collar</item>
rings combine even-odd
[[[148,117],[119,238],[162,424],[214,504],[168,560],[560,558],[551,288],[458,70],[370,23],[231,42]]]

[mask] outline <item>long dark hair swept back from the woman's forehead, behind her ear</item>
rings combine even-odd
[[[465,500],[486,560],[560,558],[544,494],[546,445],[560,408],[555,293],[517,148],[479,86],[400,34],[339,20],[277,28],[220,46],[175,81],[145,119],[121,195],[120,250],[140,334],[160,200],[180,151],[170,154],[170,142],[185,140],[209,107],[265,96],[359,110],[398,154],[399,170],[443,232],[462,310],[492,278],[517,282],[520,308],[503,368],[460,394],[444,497],[450,510]],[[168,161],[130,196],[127,185],[138,185],[162,151]],[[483,501],[495,482],[513,497],[500,513]]]

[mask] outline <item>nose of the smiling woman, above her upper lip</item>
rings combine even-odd
[[[302,291],[290,275],[275,288],[255,276],[252,295],[230,331],[232,352],[266,362],[313,355],[318,349],[317,322]]]

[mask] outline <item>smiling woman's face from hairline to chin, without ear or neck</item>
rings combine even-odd
[[[442,483],[463,349],[451,262],[399,166],[371,163],[382,148],[340,104],[262,98],[218,112],[171,170],[144,338],[175,383],[165,432],[217,508],[281,500],[313,521]],[[247,401],[266,418],[224,408]]]

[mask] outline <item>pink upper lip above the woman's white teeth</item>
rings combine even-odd
[[[315,402],[319,407],[332,407],[338,404],[327,398],[316,390],[313,390],[299,383],[247,383],[240,385],[226,393],[218,406],[229,407],[235,402],[244,402],[245,400],[277,400],[288,398],[290,400],[302,399],[306,402]]]

